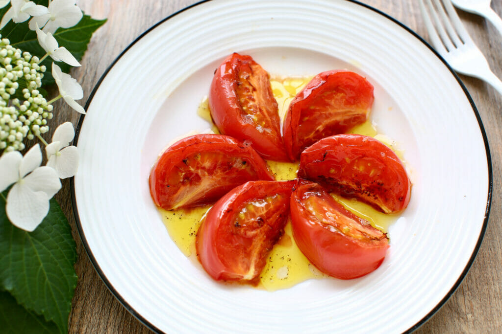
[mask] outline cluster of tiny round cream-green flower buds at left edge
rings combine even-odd
[[[53,107],[38,90],[46,71],[39,61],[0,40],[0,152],[21,151],[26,137],[49,131]]]

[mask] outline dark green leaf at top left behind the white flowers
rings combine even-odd
[[[35,3],[47,6],[47,0],[35,0]],[[0,11],[0,16],[3,17],[8,7],[9,6]],[[10,22],[0,33],[2,34],[2,38],[8,38],[11,41],[13,47],[42,58],[45,55],[45,51],[38,44],[37,33],[28,28],[29,22],[30,20],[18,24]],[[106,20],[94,20],[90,16],[84,15],[76,26],[67,29],[60,28],[54,33],[54,37],[58,41],[60,47],[65,47],[78,61],[80,61],[87,50],[87,45],[89,44],[92,34],[105,22]],[[42,79],[42,87],[54,83],[54,78],[52,78],[51,74],[52,62],[53,60],[50,57],[47,57],[42,62],[42,65],[47,67],[47,71]],[[71,69],[70,65],[63,62],[57,62],[56,64],[65,73],[68,73]]]

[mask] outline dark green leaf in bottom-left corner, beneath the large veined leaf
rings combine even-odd
[[[54,322],[26,310],[16,302],[7,291],[0,291],[0,324],[3,333],[56,333],[58,327]]]

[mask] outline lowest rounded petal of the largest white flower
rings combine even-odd
[[[7,217],[19,228],[33,231],[49,212],[49,198],[43,191],[33,191],[16,183],[7,195]]]

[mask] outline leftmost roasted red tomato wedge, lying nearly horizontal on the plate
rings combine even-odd
[[[266,162],[231,137],[201,134],[170,146],[150,173],[150,192],[166,210],[214,203],[252,180],[274,180]]]

